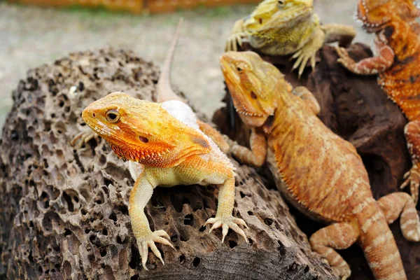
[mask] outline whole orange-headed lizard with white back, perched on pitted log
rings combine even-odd
[[[144,207],[157,186],[220,185],[216,217],[209,218],[205,225],[213,224],[210,232],[221,227],[222,241],[231,228],[248,242],[244,230],[239,227],[246,227],[246,223],[232,216],[235,168],[202,130],[211,133],[216,140],[223,141],[223,138],[214,135],[216,131],[212,127],[198,121],[190,106],[170,86],[169,71],[179,28],[158,81],[158,102],[161,103],[113,92],[87,106],[82,114],[85,123],[110,144],[118,157],[130,161],[135,183],[129,214],[144,269],[147,269],[149,247],[164,263],[155,242],[172,246],[167,240],[167,232],[152,232],[144,214]]]

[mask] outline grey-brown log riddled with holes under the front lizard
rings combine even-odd
[[[74,53],[29,71],[13,92],[0,143],[1,276],[9,279],[337,279],[312,253],[276,190],[237,163],[234,215],[249,226],[221,243],[204,222],[216,186],[157,188],[151,228],[171,236],[141,268],[127,202],[133,181],[103,139],[80,150],[82,110],[113,91],[151,100],[158,69],[123,50]]]

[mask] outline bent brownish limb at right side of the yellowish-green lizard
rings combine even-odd
[[[324,43],[338,42],[340,47],[350,45],[353,38],[356,36],[356,30],[350,25],[337,25],[330,23],[328,25],[321,25],[321,29],[325,34]]]

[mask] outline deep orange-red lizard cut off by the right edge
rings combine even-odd
[[[353,73],[377,74],[381,88],[409,120],[404,132],[413,166],[401,188],[410,186],[416,203],[420,185],[419,15],[412,0],[360,0],[357,18],[367,32],[376,34],[378,56],[356,63],[344,48],[337,48],[337,61]]]

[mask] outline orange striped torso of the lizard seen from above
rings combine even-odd
[[[372,197],[360,156],[316,116],[284,111],[268,139],[272,164],[285,183],[280,190],[311,218],[344,221],[365,197]]]

